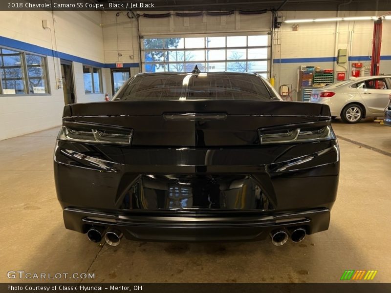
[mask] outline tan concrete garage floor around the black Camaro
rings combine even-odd
[[[0,282],[20,281],[6,276],[17,270],[90,272],[98,282],[338,282],[345,270],[378,270],[373,281],[390,282],[391,156],[369,148],[391,153],[391,127],[334,128],[341,176],[330,228],[282,247],[268,240],[97,246],[63,225],[52,171],[58,128],[1,141]]]

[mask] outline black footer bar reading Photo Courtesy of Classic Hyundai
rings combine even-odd
[[[347,281],[349,282],[349,281]],[[391,283],[0,283],[18,293],[389,293]]]

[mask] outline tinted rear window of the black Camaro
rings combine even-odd
[[[271,100],[260,77],[240,74],[141,75],[123,87],[115,100]]]

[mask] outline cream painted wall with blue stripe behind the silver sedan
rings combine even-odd
[[[286,20],[315,19],[337,17],[335,11],[288,11],[284,12]],[[349,16],[380,16],[386,12],[375,11],[341,11],[339,17]],[[295,23],[283,23],[274,32],[273,72],[276,78],[275,87],[282,84],[292,84],[293,96],[296,97],[298,83],[298,68],[300,65],[319,66],[322,69],[334,69],[336,72],[348,72],[351,75],[351,64],[338,65],[333,61],[338,49],[348,49],[350,63],[361,62],[362,76],[369,75],[371,55],[371,40],[373,36],[373,21],[340,21],[337,22],[306,22],[299,24],[294,31]],[[383,21],[383,38],[380,62],[380,74],[391,73],[391,21]],[[309,62],[309,58],[324,59]],[[281,62],[280,62],[281,59]],[[331,60],[330,60],[331,59]],[[298,62],[294,62],[298,60]],[[309,60],[309,61],[308,61]]]

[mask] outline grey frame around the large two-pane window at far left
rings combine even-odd
[[[50,88],[50,77],[49,77],[49,71],[48,71],[48,62],[47,62],[47,56],[46,55],[43,55],[43,54],[39,54],[39,53],[35,53],[35,52],[31,52],[31,51],[26,51],[26,50],[20,50],[20,49],[16,49],[16,48],[12,48],[12,47],[8,47],[8,46],[3,46],[3,45],[0,45],[0,48],[2,49],[7,49],[7,50],[12,50],[12,51],[15,51],[15,52],[19,52],[20,56],[21,56],[21,69],[22,69],[22,72],[23,72],[23,85],[24,85],[24,89],[25,89],[25,92],[20,94],[20,93],[15,93],[15,94],[3,94],[3,88],[2,88],[2,78],[1,78],[1,75],[0,75],[0,97],[22,97],[22,96],[51,96],[51,88]],[[36,56],[40,56],[44,59],[44,74],[45,74],[45,81],[46,81],[46,89],[47,89],[47,93],[30,93],[30,87],[29,87],[29,77],[28,77],[28,68],[27,68],[27,60],[26,60],[26,54],[29,54],[29,55],[36,55]]]

